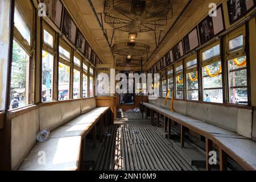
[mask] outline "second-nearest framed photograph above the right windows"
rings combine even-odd
[[[217,7],[217,16],[207,16],[199,23],[200,43],[203,45],[225,30],[222,6]]]

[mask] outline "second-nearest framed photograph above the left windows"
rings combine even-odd
[[[66,9],[64,11],[62,32],[73,44],[76,43],[76,24]]]

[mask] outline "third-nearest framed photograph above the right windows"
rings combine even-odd
[[[193,51],[193,49],[199,47],[199,38],[197,35],[197,27],[195,27],[188,35],[183,38],[185,54]]]

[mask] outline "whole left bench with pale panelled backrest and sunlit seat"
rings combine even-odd
[[[112,114],[110,107],[96,107],[95,98],[55,101],[10,111],[6,123],[10,131],[6,138],[10,148],[7,162],[12,170],[82,170],[86,135],[91,131],[96,146],[96,136],[101,139]],[[49,138],[36,142],[36,134],[43,129],[51,131]]]

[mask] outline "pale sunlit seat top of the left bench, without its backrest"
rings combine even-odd
[[[109,107],[97,107],[51,131],[46,142],[36,142],[19,171],[79,170],[82,140],[108,110]],[[38,163],[40,152],[45,152],[44,164]]]

